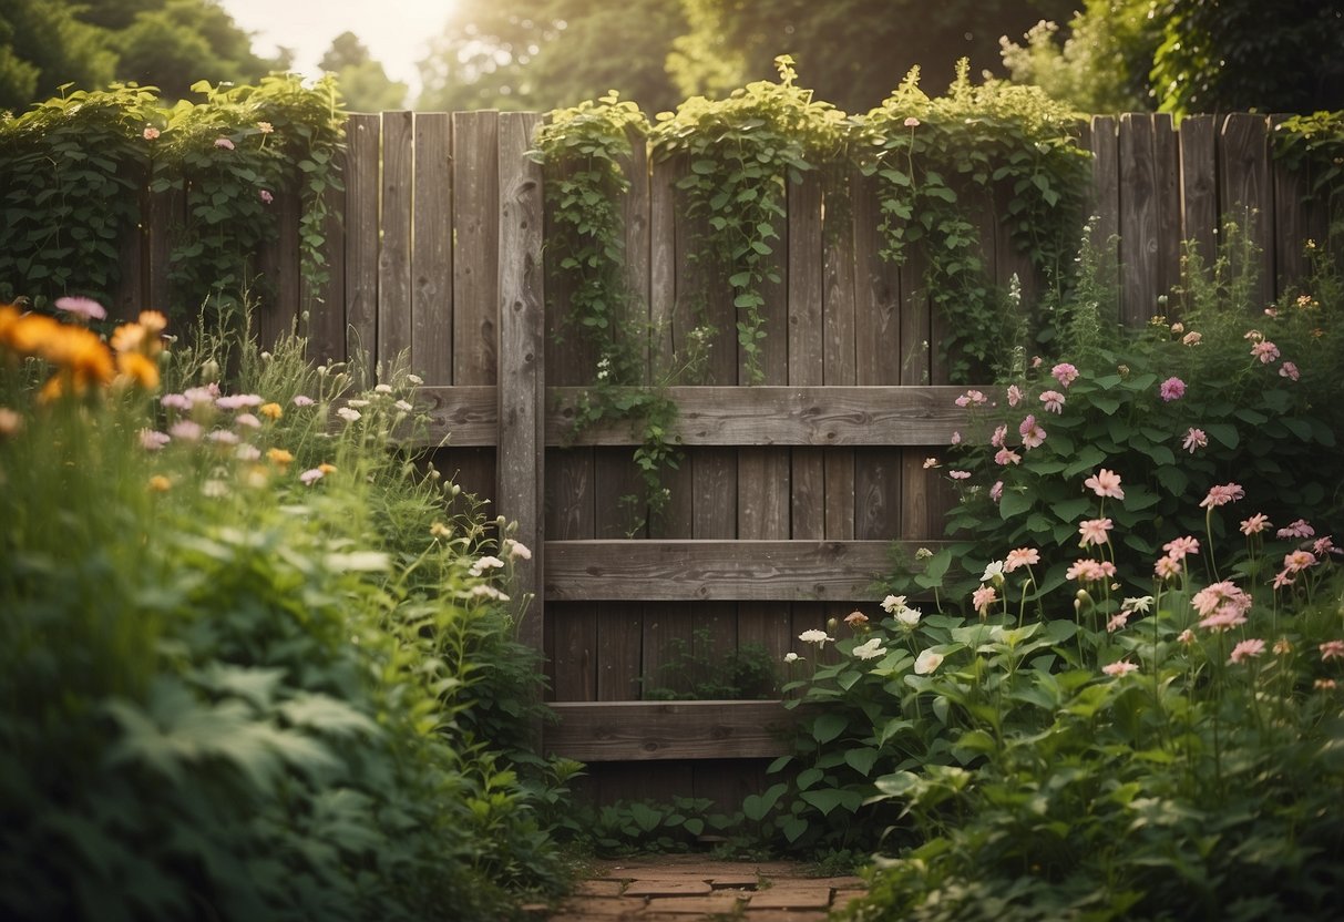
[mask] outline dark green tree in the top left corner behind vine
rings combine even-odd
[[[117,56],[109,35],[66,3],[0,0],[0,110],[23,112],[62,83],[102,86]]]

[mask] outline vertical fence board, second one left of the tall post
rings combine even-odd
[[[415,116],[411,364],[426,384],[453,383],[453,164],[448,113]]]

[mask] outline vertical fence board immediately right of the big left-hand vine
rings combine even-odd
[[[378,160],[382,118],[345,121],[345,355],[378,348]]]

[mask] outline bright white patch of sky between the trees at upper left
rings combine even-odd
[[[444,30],[454,0],[218,0],[239,28],[253,32],[253,50],[294,50],[294,69],[317,77],[317,62],[341,32],[353,32],[394,81],[419,93],[415,63],[429,39]]]

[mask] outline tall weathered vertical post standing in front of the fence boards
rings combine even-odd
[[[535,595],[519,640],[542,649],[543,528],[546,521],[544,328],[542,169],[526,155],[538,116],[499,118],[499,476],[496,508],[517,523],[531,559],[515,560],[515,591]]]

